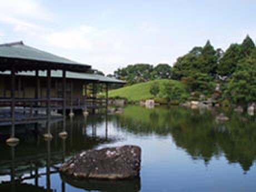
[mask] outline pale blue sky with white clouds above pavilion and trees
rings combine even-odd
[[[31,47],[105,74],[127,64],[173,65],[209,39],[256,39],[256,0],[0,0],[0,43]]]

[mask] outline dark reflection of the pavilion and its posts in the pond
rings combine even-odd
[[[18,146],[1,146],[0,156],[0,191],[54,191],[51,175],[58,175],[58,167],[65,159],[81,150],[92,149],[100,144],[110,143],[105,135],[82,134],[97,128],[97,122],[87,122],[86,118],[75,117],[67,121],[70,137],[61,139],[55,137],[45,141],[39,135],[29,142]],[[102,122],[103,123],[103,122]],[[51,123],[52,133],[57,134],[62,129],[62,123]],[[88,128],[86,127],[88,126]],[[106,122],[107,127],[107,122]],[[107,134],[107,133],[106,133]],[[90,136],[88,136],[90,135]],[[10,178],[1,181],[2,178]],[[43,183],[40,182],[40,179]],[[61,180],[60,180],[61,182]],[[40,184],[41,183],[41,184]],[[62,182],[60,191],[65,191]]]

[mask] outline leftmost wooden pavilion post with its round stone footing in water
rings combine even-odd
[[[18,138],[15,138],[15,68],[12,67],[11,71],[11,119],[12,119],[12,125],[11,125],[11,137],[6,140],[7,143],[13,143],[16,144],[19,142]]]

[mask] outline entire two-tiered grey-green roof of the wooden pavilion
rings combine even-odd
[[[87,68],[91,68],[91,66],[83,65],[83,64],[74,62],[70,59],[59,57],[57,55],[47,53],[47,52],[44,52],[44,51],[36,49],[36,48],[26,46],[23,44],[23,42],[0,44],[0,58],[26,59],[26,60],[31,60],[31,61],[39,61],[39,62],[47,62],[47,63],[68,64],[68,65],[71,65],[71,67],[68,68],[68,69],[70,69],[70,71],[67,71],[66,75],[67,75],[67,78],[70,78],[70,79],[96,80],[96,81],[105,82],[105,83],[126,83],[122,80],[104,77],[101,75],[90,74],[90,73],[80,73],[80,72],[78,72],[80,70],[75,70],[75,67],[77,65],[80,65],[82,67],[87,67]],[[72,67],[72,66],[74,66],[74,67]],[[1,72],[1,70],[0,70],[0,74],[8,75],[8,74],[10,74],[10,72],[8,69],[4,69],[3,72]],[[34,76],[35,71],[28,70],[25,72],[25,71],[19,70],[18,75]],[[51,75],[52,75],[52,77],[55,77],[55,78],[61,78],[62,71],[61,70],[52,70]],[[44,70],[40,70],[40,76],[46,77],[46,72]]]

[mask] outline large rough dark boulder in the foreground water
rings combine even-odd
[[[75,178],[126,179],[140,175],[141,149],[124,145],[82,151],[64,163],[60,171]]]

